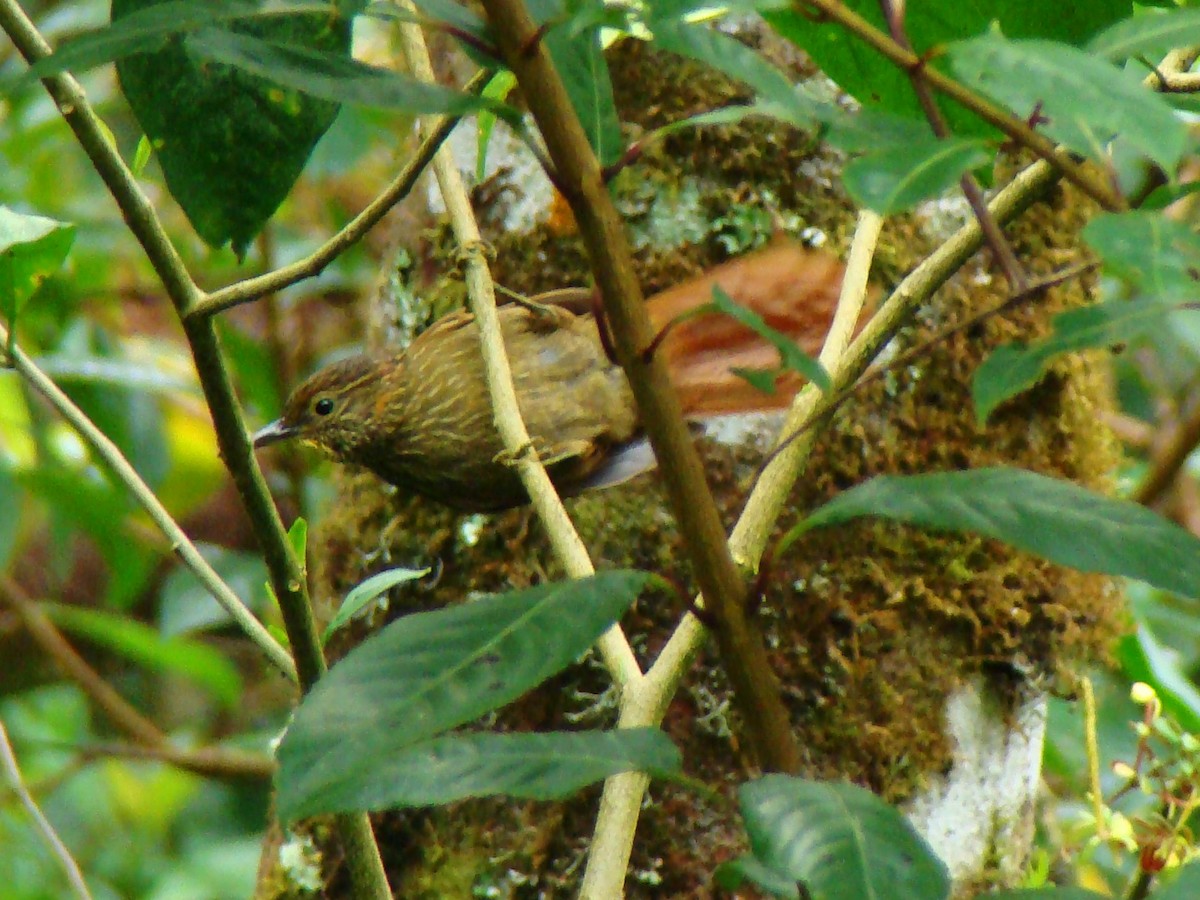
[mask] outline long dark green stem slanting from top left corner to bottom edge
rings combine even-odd
[[[0,28],[12,38],[28,64],[34,65],[50,54],[49,44],[16,0],[0,0]],[[204,299],[203,292],[188,275],[150,200],[116,152],[110,132],[88,103],[79,83],[70,74],[54,74],[43,78],[42,84],[116,200],[130,232],[142,245],[184,324],[200,388],[212,415],[221,457],[233,475],[262,546],[292,644],[300,688],[307,691],[325,671],[325,658],[308,602],[308,587],[254,458],[212,320],[188,318],[191,310]],[[391,896],[388,877],[367,816],[344,814],[336,816],[335,822],[346,848],[355,895],[388,900]]]

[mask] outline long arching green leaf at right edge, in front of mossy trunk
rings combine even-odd
[[[809,528],[862,516],[973,532],[1058,565],[1200,596],[1195,535],[1136,503],[1025,469],[874,478],[834,497],[785,541]]]

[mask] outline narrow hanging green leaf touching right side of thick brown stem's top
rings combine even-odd
[[[539,23],[556,25],[566,20],[563,0],[530,0],[528,6]],[[601,166],[611,166],[620,158],[624,140],[600,30],[551,28],[542,40],[592,150]]]

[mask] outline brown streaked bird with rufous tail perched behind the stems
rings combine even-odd
[[[721,288],[769,325],[816,354],[842,280],[834,257],[776,244],[650,298],[655,328],[707,304]],[[563,496],[619,484],[653,467],[625,374],[605,353],[590,314],[564,305],[581,292],[535,298],[542,307],[499,310],[517,403],[538,455]],[[589,294],[582,292],[582,296]],[[684,412],[694,419],[779,409],[800,385],[784,376],[774,394],[734,376],[769,368],[776,350],[724,316],[671,328],[659,350]],[[528,502],[492,419],[474,317],[450,313],[394,354],[330,365],[288,397],[283,415],[254,434],[254,446],[299,438],[335,460],[371,469],[397,487],[467,511]]]

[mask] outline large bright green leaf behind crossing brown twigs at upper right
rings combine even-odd
[[[846,5],[887,31],[878,0],[847,0]],[[1046,14],[1044,0],[973,0],[970,4],[923,0],[905,7],[905,29],[917,53],[931,54],[934,59],[929,65],[942,68],[944,62],[937,58],[942,47],[980,35],[994,24],[1012,37],[1046,37],[1074,44],[1129,12],[1129,0],[1060,4],[1052,16]],[[826,74],[860,103],[900,116],[924,119],[908,76],[841,26],[809,16],[798,5],[768,10],[763,17],[781,35],[804,48]],[[990,126],[958,104],[942,98],[937,103],[956,134],[994,134]]]

